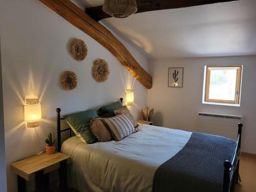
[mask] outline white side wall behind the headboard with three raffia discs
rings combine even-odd
[[[10,163],[43,150],[49,132],[56,137],[57,107],[63,114],[98,109],[102,104],[125,98],[126,88],[131,87],[135,91],[132,113],[138,118],[139,109],[146,106],[147,90],[109,51],[39,1],[1,1],[0,33],[8,191],[17,190]],[[88,46],[88,56],[82,62],[70,55],[70,41],[74,37],[83,39]],[[147,58],[128,48],[147,70]],[[92,62],[96,58],[109,62],[111,73],[106,82],[98,83],[92,78]],[[60,87],[59,77],[65,70],[78,76],[78,86],[73,91]],[[43,120],[36,129],[39,140],[35,130],[26,128],[24,123],[23,102],[29,95],[41,97]]]

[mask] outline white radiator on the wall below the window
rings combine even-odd
[[[220,135],[233,140],[238,139],[238,123],[242,123],[242,116],[202,112],[198,115],[199,132]]]

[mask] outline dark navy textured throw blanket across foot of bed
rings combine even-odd
[[[153,192],[221,192],[223,162],[231,161],[236,144],[225,137],[192,133],[182,150],[156,170]]]

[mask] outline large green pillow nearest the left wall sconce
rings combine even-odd
[[[71,129],[83,142],[94,143],[97,138],[92,134],[90,121],[94,117],[98,117],[95,110],[87,110],[63,116]]]

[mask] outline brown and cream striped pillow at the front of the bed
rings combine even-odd
[[[132,122],[123,114],[106,118],[104,121],[116,141],[120,141],[135,132]]]

